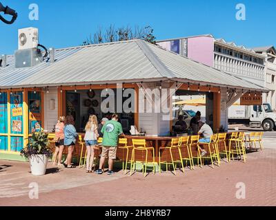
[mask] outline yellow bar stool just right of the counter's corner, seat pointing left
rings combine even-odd
[[[166,164],[166,171],[168,171],[168,165],[172,165],[173,167],[173,171],[176,175],[175,172],[175,164],[176,163],[181,163],[182,166],[182,170],[184,173],[184,165],[183,165],[183,160],[182,160],[182,156],[181,156],[181,151],[179,151],[179,144],[181,144],[181,138],[172,138],[171,142],[170,142],[170,146],[161,146],[159,148],[159,173],[161,173],[161,164]],[[166,153],[166,151],[170,152],[170,156],[169,159],[166,158],[165,160],[161,161],[161,154],[164,155],[164,153]],[[172,151],[177,151],[179,158],[178,159],[174,159]],[[166,156],[166,154],[165,154]]]

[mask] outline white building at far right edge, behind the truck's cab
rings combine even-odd
[[[273,110],[276,110],[276,50],[273,46],[256,47],[255,52],[266,56],[265,67],[265,87],[270,92],[264,96],[264,101],[271,104]]]

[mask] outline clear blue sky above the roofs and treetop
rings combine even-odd
[[[19,13],[13,25],[0,22],[0,54],[17,50],[19,28],[39,28],[39,43],[46,47],[72,47],[101,25],[150,25],[157,39],[197,34],[238,45],[276,45],[275,0],[0,0]],[[30,21],[30,3],[39,5],[39,21]],[[237,21],[235,5],[246,5],[246,21]],[[1,13],[3,14],[3,12]]]

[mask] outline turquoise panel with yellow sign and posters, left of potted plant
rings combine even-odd
[[[10,133],[23,134],[23,94],[16,91],[10,94]],[[23,137],[10,137],[10,150],[21,151],[23,148]]]

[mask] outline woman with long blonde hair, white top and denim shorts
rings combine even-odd
[[[86,123],[86,135],[84,140],[86,141],[87,159],[86,159],[86,173],[92,173],[92,166],[94,163],[94,147],[97,145],[98,133],[98,121],[96,115],[90,115],[88,122]]]

